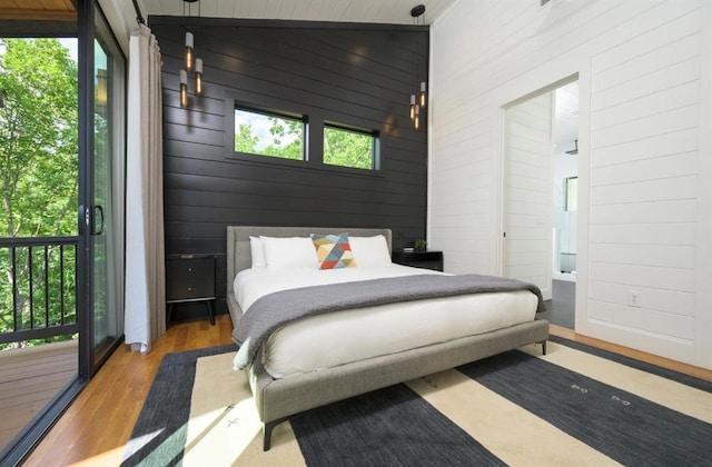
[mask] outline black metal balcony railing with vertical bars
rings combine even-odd
[[[78,331],[77,241],[0,238],[0,345]]]

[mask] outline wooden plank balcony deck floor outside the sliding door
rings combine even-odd
[[[0,449],[77,375],[77,340],[0,351]]]

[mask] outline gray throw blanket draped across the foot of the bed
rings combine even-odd
[[[515,290],[532,291],[538,298],[536,312],[545,310],[542,292],[533,284],[474,274],[393,277],[269,294],[255,301],[237,324],[234,336],[239,350],[234,366],[246,368],[271,332],[307,316],[425,298]]]

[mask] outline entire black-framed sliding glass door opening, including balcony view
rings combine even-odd
[[[14,34],[0,38],[0,172],[14,180],[0,183],[13,201],[0,208],[0,349],[18,359],[0,361],[0,465],[27,455],[123,322],[125,58],[95,1],[66,6],[77,21],[16,3],[36,20],[0,12]]]

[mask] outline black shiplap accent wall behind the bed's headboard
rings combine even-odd
[[[426,27],[192,18],[205,92],[178,102],[185,19],[150,17],[162,53],[166,255],[217,257],[225,307],[228,225],[387,227],[394,247],[425,238],[427,113],[409,95],[427,77]],[[380,169],[228,157],[234,102],[377,131]],[[226,122],[228,125],[226,125]],[[131,122],[129,122],[131,125]]]

